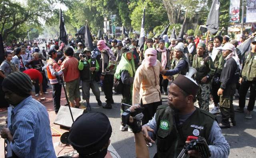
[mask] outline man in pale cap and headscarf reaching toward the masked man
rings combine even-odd
[[[174,80],[180,74],[186,75],[189,62],[183,51],[184,47],[180,44],[174,47],[174,59],[172,60],[171,69],[166,71],[165,76],[172,76]]]

